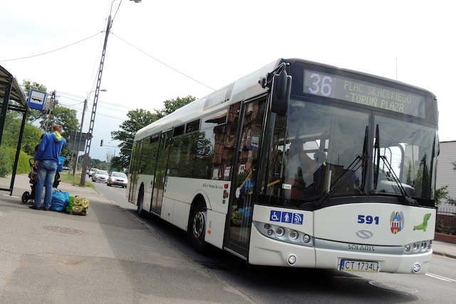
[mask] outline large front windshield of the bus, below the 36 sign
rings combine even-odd
[[[368,171],[363,171],[367,168],[357,161],[363,154],[366,127],[372,122],[380,127],[380,154],[394,171],[389,172],[380,159],[375,194],[401,195],[391,177],[395,173],[408,195],[430,199],[435,129],[376,115],[374,111],[293,99],[288,115],[275,118],[266,194],[299,206],[319,199],[342,174],[331,196],[373,194],[372,178],[368,179],[371,184],[361,189],[366,179],[363,172]],[[373,129],[369,129],[372,143]],[[366,152],[370,157],[366,166],[373,167],[374,152]],[[355,166],[351,166],[353,162]]]

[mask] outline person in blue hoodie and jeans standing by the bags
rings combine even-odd
[[[30,206],[31,209],[40,209],[43,187],[46,187],[43,209],[47,211],[51,207],[52,184],[56,177],[58,157],[66,144],[65,138],[62,137],[62,131],[61,125],[54,125],[52,132],[46,133],[41,138],[38,150],[33,156],[34,165],[38,171],[36,172],[35,200]]]

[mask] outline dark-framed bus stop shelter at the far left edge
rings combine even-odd
[[[13,193],[28,110],[16,78],[0,65],[0,190]]]

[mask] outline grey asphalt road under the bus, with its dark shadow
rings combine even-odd
[[[125,189],[106,184],[95,184],[95,188],[122,206],[125,216],[136,217],[135,206],[125,202]],[[156,240],[155,246],[187,256],[195,267],[203,266],[210,276],[232,286],[232,290],[237,290],[249,303],[455,302],[456,260],[452,258],[434,255],[426,275],[368,273],[353,276],[338,271],[249,266],[222,251],[201,256],[193,251],[184,231],[155,217],[142,221]]]

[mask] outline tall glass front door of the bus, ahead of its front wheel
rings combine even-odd
[[[266,98],[242,105],[224,247],[247,258]]]

